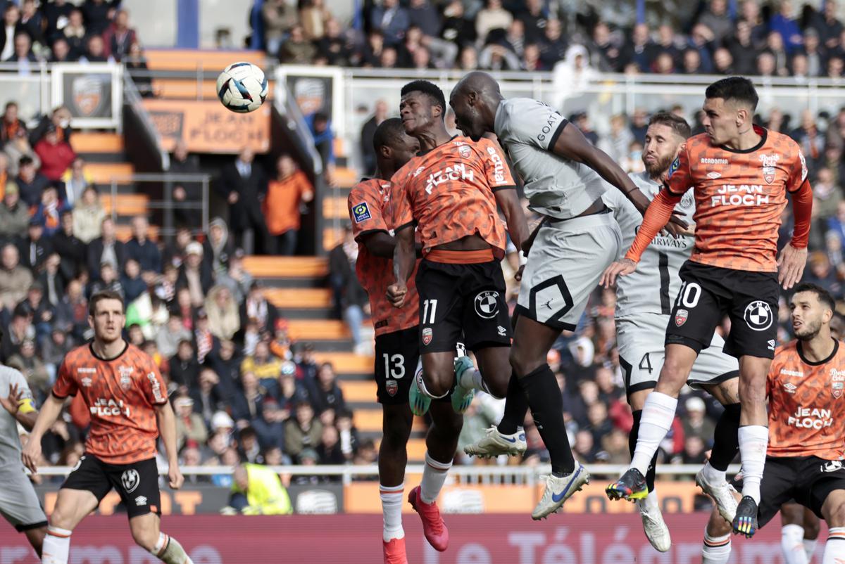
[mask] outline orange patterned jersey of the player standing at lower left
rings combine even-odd
[[[126,344],[111,361],[96,356],[90,344],[71,350],[52,393],[58,399],[82,394],[91,415],[86,453],[108,464],[155,457],[155,406],[167,403],[167,388],[155,362],[138,347]]]

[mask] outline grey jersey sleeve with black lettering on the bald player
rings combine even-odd
[[[552,150],[555,141],[569,123],[551,106],[530,98],[504,100],[496,133],[504,133],[505,142],[532,144],[544,150]]]

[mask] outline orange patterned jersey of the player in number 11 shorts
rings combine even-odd
[[[433,247],[478,235],[504,257],[504,225],[493,192],[515,187],[499,145],[456,136],[409,160],[391,179],[402,188],[397,198],[398,229],[413,222],[423,256]]]

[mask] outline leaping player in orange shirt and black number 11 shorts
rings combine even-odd
[[[423,245],[416,276],[423,371],[412,394],[423,395],[428,402],[449,395],[455,384],[455,347],[463,334],[483,375],[483,382],[479,377],[476,385],[504,398],[510,380],[510,315],[499,264],[504,226],[496,204],[504,212],[511,239],[520,247],[527,227],[514,179],[493,141],[450,136],[444,124],[446,101],[436,85],[417,80],[406,84],[401,96],[402,124],[406,133],[419,139],[422,152],[392,180],[402,197],[395,201],[395,283],[388,294],[394,306],[404,305],[406,280],[416,263],[413,227],[417,225]],[[472,387],[455,389],[455,411],[466,409],[472,393]],[[427,442],[423,488],[412,491],[410,501],[423,518],[428,541],[445,550],[448,534],[434,499],[452,464],[458,435],[438,431],[436,437]]]

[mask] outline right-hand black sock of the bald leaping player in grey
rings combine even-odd
[[[572,458],[569,437],[564,425],[564,399],[560,395],[558,380],[554,372],[543,364],[537,370],[520,378],[520,385],[526,394],[528,405],[542,442],[552,458],[552,474],[572,474],[575,458]]]

